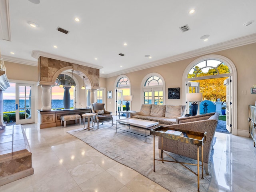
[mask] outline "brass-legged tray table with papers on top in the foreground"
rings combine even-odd
[[[175,130],[175,131],[180,131],[183,133],[186,133],[188,137],[184,137],[183,134],[181,134],[180,136],[174,135],[174,134],[168,134],[165,133],[167,130]],[[152,130],[150,130],[150,133],[152,135],[154,135],[154,171],[155,171],[155,160],[158,161],[162,161],[162,162],[174,162],[174,163],[179,163],[180,165],[184,166],[186,169],[190,170],[192,173],[194,173],[197,176],[197,188],[198,188],[198,192],[199,190],[199,167],[202,167],[202,179],[204,179],[204,150],[203,150],[203,146],[204,143],[206,142],[206,132],[205,133],[200,133],[200,132],[194,132],[194,131],[188,131],[188,130],[180,130],[180,129],[174,129],[174,128],[168,128],[165,126],[159,126],[157,128],[154,128]],[[162,139],[162,149],[163,147],[163,138],[168,138],[168,139],[172,139],[172,140],[176,140],[179,142],[184,142],[184,143],[188,143],[188,144],[193,144],[197,146],[197,164],[192,164],[192,163],[186,163],[186,162],[179,162],[178,160],[176,160],[175,158],[173,158],[172,156],[170,156],[169,154],[167,154],[166,152],[164,152],[164,150],[162,150],[162,159],[156,159],[155,158],[155,135],[159,137],[159,139]],[[199,147],[201,146],[202,151],[202,164],[199,164]],[[169,156],[170,158],[172,158],[174,161],[170,161],[170,160],[164,160],[164,154],[166,154],[167,156]],[[185,166],[184,164],[190,164],[190,165],[196,165],[197,166],[197,173],[192,171],[190,168],[188,168],[187,166]]]

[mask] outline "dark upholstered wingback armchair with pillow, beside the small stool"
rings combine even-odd
[[[92,112],[96,115],[96,116],[93,116],[93,126],[95,123],[97,123],[99,128],[99,123],[103,124],[104,122],[108,122],[108,121],[112,121],[112,126],[113,126],[113,117],[111,115],[112,112],[105,110],[104,103],[93,103]]]

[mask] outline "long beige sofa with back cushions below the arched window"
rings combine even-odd
[[[185,105],[142,104],[140,111],[130,113],[130,117],[171,125],[176,124],[177,118],[184,116],[185,109]]]

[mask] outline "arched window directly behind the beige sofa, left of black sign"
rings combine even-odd
[[[164,104],[164,82],[158,74],[150,74],[143,80],[143,103],[144,104]]]

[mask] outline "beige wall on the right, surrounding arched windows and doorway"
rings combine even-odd
[[[218,54],[229,58],[237,70],[237,111],[238,111],[238,135],[248,136],[248,105],[254,104],[256,94],[250,94],[250,88],[256,84],[255,66],[256,66],[256,43],[246,46],[240,46],[210,54]],[[201,55],[203,56],[203,55]],[[140,110],[141,105],[141,82],[146,74],[156,72],[163,76],[166,83],[165,98],[166,104],[182,103],[182,75],[186,67],[195,59],[194,57],[178,62],[172,62],[157,67],[147,68],[136,72],[125,74],[131,82],[132,110]],[[114,82],[118,76],[106,79],[107,90],[114,91]],[[168,88],[180,87],[180,99],[168,99]],[[242,95],[246,91],[246,95]],[[110,104],[111,102],[111,104]],[[107,99],[107,109],[114,112],[114,98]]]

